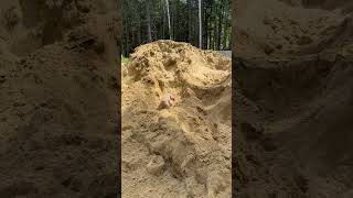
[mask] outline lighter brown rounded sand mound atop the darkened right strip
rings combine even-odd
[[[234,3],[238,57],[289,58],[319,53],[346,30],[349,16],[340,10],[303,9],[278,0]],[[252,12],[246,12],[252,10]]]

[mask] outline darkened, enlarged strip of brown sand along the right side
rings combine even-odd
[[[352,197],[353,23],[315,2],[233,4],[235,197]]]

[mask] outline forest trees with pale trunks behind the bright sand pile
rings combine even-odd
[[[122,0],[122,54],[157,40],[229,50],[231,20],[231,0]]]

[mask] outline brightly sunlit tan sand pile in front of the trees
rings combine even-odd
[[[231,197],[231,61],[158,41],[125,67],[122,196]]]

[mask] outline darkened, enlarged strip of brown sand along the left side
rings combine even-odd
[[[116,197],[117,6],[95,3],[1,1],[0,197]]]

